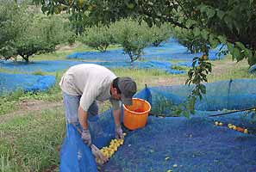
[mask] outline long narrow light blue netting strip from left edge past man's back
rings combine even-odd
[[[124,61],[113,61],[113,62],[83,62],[83,61],[72,61],[72,60],[51,60],[51,61],[35,61],[35,62],[11,62],[2,61],[0,67],[7,70],[22,71],[22,72],[34,72],[34,71],[61,71],[66,70],[72,65],[76,64],[100,64],[108,68],[134,68],[134,69],[159,69],[172,74],[181,74],[185,71],[178,71],[172,69],[170,62],[164,61],[147,61],[140,62],[135,61],[133,65],[129,62]]]

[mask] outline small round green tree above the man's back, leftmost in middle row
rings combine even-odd
[[[113,35],[107,26],[99,25],[85,28],[84,34],[79,39],[87,46],[105,52],[110,44],[113,44]]]

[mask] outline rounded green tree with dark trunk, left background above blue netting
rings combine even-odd
[[[25,17],[24,26],[16,38],[16,49],[26,61],[34,54],[55,51],[55,46],[67,42],[72,32],[65,26],[65,22],[56,16],[34,16],[29,20]]]

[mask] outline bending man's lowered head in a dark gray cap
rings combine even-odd
[[[116,100],[122,101],[125,105],[132,105],[133,96],[137,91],[137,85],[130,77],[116,77],[110,91]]]

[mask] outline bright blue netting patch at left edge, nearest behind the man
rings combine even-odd
[[[26,74],[7,74],[0,72],[0,95],[23,89],[27,91],[45,91],[56,82],[53,76],[38,76]]]

